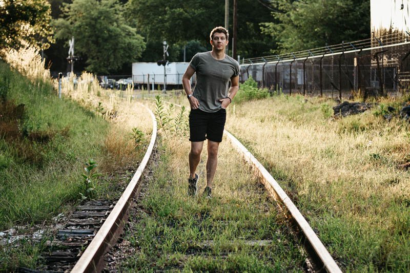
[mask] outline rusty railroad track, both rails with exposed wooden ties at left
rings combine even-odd
[[[70,246],[74,250],[55,251],[54,253],[50,253],[49,257],[45,257],[47,261],[51,263],[54,262],[54,267],[50,268],[50,270],[69,270],[68,266],[62,264],[61,261],[68,260],[72,262],[77,260],[77,256],[79,255],[80,257],[72,268],[72,272],[98,272],[104,268],[104,255],[111,246],[115,245],[122,232],[122,228],[128,217],[127,209],[130,207],[132,199],[139,193],[141,175],[147,166],[154,148],[157,127],[155,117],[151,111],[150,115],[153,120],[151,141],[144,159],[142,159],[141,164],[126,190],[115,205],[90,202],[77,208],[77,211],[73,214],[73,218],[68,225],[66,225],[64,229],[59,230],[58,236],[60,240],[49,242],[50,245],[59,244],[61,246]],[[297,234],[303,239],[302,242],[315,263],[315,269],[318,271],[341,272],[340,268],[316,236],[309,223],[304,219],[275,179],[232,134],[228,131],[225,131],[225,133],[239,154],[241,154],[244,159],[253,166],[253,169],[261,178],[265,188],[277,201],[285,216],[291,220],[293,227],[296,229]],[[102,219],[104,219],[104,223],[101,224],[101,221],[96,223],[96,221],[93,222],[92,220],[89,220],[92,218],[90,218],[91,215],[98,216],[100,217],[99,219],[103,217]],[[75,226],[76,228],[72,229],[70,228],[70,225]],[[95,229],[77,228],[78,226],[89,227],[93,225],[96,227]],[[98,232],[95,231],[96,229],[98,229]],[[67,238],[75,238],[75,240],[67,240]],[[260,242],[256,243],[260,244]],[[78,249],[76,248],[84,248],[85,246],[87,246],[87,248],[84,251],[80,251],[80,254],[78,254]]]

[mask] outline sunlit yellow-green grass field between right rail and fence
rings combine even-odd
[[[409,271],[410,174],[397,167],[408,160],[408,122],[372,111],[333,120],[334,105],[298,95],[248,101],[228,111],[226,128],[270,170],[342,270]]]

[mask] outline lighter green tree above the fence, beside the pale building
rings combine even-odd
[[[370,36],[370,0],[282,0],[273,4],[279,22],[262,24],[281,53],[340,44]]]

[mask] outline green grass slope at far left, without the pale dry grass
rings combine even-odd
[[[24,104],[22,118],[14,120],[17,128],[3,122],[0,138],[3,230],[50,219],[76,200],[82,165],[101,158],[109,125],[77,103],[59,100],[47,82],[35,85],[4,63],[0,73],[10,80],[9,103]]]

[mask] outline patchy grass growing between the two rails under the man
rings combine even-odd
[[[302,271],[303,249],[281,213],[224,139],[213,198],[201,197],[206,145],[198,167],[198,197],[187,196],[188,137],[168,136],[125,240],[135,254],[119,271]],[[272,240],[250,246],[250,240]],[[209,243],[212,241],[212,243]]]

